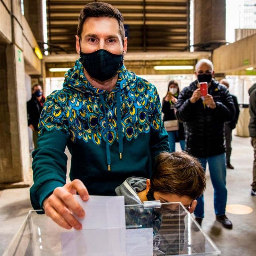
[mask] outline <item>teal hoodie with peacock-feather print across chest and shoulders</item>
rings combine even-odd
[[[44,199],[66,183],[66,146],[72,155],[70,180],[82,180],[91,195],[115,195],[126,178],[149,178],[154,159],[170,151],[154,85],[127,71],[108,92],[93,87],[79,60],[65,74],[63,89],[50,94],[33,151],[34,185],[30,199]]]

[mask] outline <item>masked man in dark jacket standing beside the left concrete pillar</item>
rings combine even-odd
[[[37,138],[38,138],[38,123],[41,111],[43,109],[45,97],[43,95],[43,90],[40,84],[35,84],[32,87],[32,97],[27,102],[27,112],[28,112],[28,126],[33,131],[33,142],[34,148],[37,148]]]

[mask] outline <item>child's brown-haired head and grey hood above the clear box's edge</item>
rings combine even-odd
[[[197,158],[182,152],[163,152],[156,157],[150,180],[130,177],[116,188],[125,204],[142,204],[160,200],[162,203],[181,202],[189,207],[205,189],[204,169]]]

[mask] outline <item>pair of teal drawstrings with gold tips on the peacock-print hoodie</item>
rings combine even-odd
[[[102,94],[99,94],[100,102],[103,106],[103,110],[106,117],[106,122],[108,122],[107,111],[105,106],[105,101]],[[117,132],[118,132],[118,151],[119,151],[119,158],[122,159],[123,153],[123,132],[122,132],[122,122],[121,122],[121,92],[116,92],[116,115],[117,115]],[[107,127],[107,135],[106,135],[106,152],[107,152],[107,164],[108,164],[108,171],[111,171],[111,157],[110,157],[110,148],[109,148],[109,141],[108,141],[108,125]]]

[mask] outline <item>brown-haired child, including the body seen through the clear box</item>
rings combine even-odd
[[[183,151],[164,152],[156,157],[150,180],[128,178],[116,188],[116,195],[124,196],[125,204],[131,205],[125,208],[127,226],[153,228],[153,255],[184,254],[185,222],[181,220],[186,212],[176,209],[177,204],[164,204],[159,209],[134,204],[181,202],[189,210],[192,201],[203,194],[205,184],[204,169],[195,157]]]

